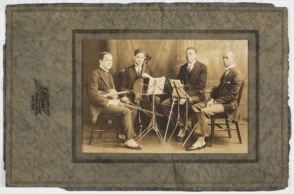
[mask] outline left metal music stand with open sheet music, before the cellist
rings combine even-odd
[[[164,79],[165,80],[165,77],[160,77],[161,79]],[[163,144],[163,146],[166,148],[166,146],[165,146],[165,142],[163,141],[163,137],[161,136],[161,134],[160,134],[160,132],[159,132],[159,129],[158,129],[158,127],[157,127],[157,123],[156,123],[156,119],[155,119],[155,107],[154,107],[154,95],[155,95],[155,92],[156,92],[156,95],[159,95],[159,94],[164,94],[163,93],[163,88],[162,88],[162,90],[161,90],[161,88],[160,88],[160,90],[158,90],[158,88],[157,88],[157,86],[156,86],[156,82],[157,82],[157,80],[161,80],[161,79],[159,79],[159,78],[154,78],[154,79],[150,79],[149,80],[149,83],[150,82],[153,82],[153,84],[148,84],[148,90],[147,91],[149,91],[149,89],[150,89],[150,91],[152,90],[152,118],[151,118],[151,121],[150,121],[150,123],[149,123],[149,125],[148,125],[148,127],[142,132],[142,134],[144,134],[144,135],[142,135],[142,137],[141,137],[141,133],[140,133],[140,136],[138,136],[138,137],[140,137],[140,139],[137,141],[137,142],[139,142],[145,135],[147,135],[147,133],[149,132],[149,131],[151,131],[152,129],[154,129],[155,130],[155,132],[156,132],[156,135],[158,136],[158,138],[159,138],[159,140],[160,140],[160,142]],[[143,94],[143,95],[150,95],[150,92],[149,93],[147,93],[147,94]],[[163,116],[163,115],[160,115],[160,116]],[[137,137],[137,138],[138,138]],[[136,138],[136,139],[137,139]],[[135,139],[135,140],[136,140]],[[167,149],[167,148],[166,148]]]

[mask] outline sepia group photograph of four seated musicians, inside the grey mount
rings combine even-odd
[[[83,153],[247,153],[247,40],[83,40]]]

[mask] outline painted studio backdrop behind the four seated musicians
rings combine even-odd
[[[187,63],[185,51],[188,47],[197,49],[197,60],[207,66],[206,89],[218,86],[225,72],[223,52],[232,50],[237,54],[236,66],[243,73],[245,88],[240,102],[241,119],[248,118],[248,41],[247,40],[83,40],[82,82],[99,66],[99,54],[108,51],[113,56],[113,75],[116,89],[120,89],[120,70],[134,63],[134,50],[144,49],[152,57],[148,65],[156,77],[177,77],[181,65]],[[161,98],[167,98],[162,96]],[[209,94],[206,94],[209,97]],[[83,121],[90,121],[87,98],[83,94]]]

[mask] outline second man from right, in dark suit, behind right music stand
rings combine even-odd
[[[190,116],[190,108],[193,104],[204,101],[206,98],[203,94],[200,93],[205,88],[206,78],[207,78],[207,68],[204,64],[196,60],[197,50],[194,47],[189,47],[186,49],[186,64],[182,65],[178,73],[177,79],[181,80],[184,85],[186,85],[185,92],[191,97],[191,100],[188,99],[188,115],[186,112],[183,117],[183,124],[186,124],[187,117]],[[179,101],[180,105],[184,105],[186,99],[181,98]],[[172,97],[161,102],[161,108],[164,111],[167,117],[170,116],[170,111],[172,107]],[[181,106],[180,108],[186,108],[186,106]],[[175,127],[176,125],[176,116],[172,111],[170,122]],[[179,126],[178,135],[176,141],[180,142],[181,138],[185,136],[184,126]]]

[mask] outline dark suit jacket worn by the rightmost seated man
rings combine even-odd
[[[242,81],[243,75],[240,70],[236,66],[232,67],[226,76],[221,76],[220,98],[215,100],[216,104],[223,105],[227,117],[233,121],[240,119],[237,101]]]

